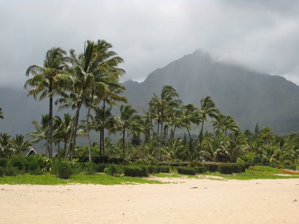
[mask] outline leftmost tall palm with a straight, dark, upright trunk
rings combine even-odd
[[[43,67],[38,65],[31,65],[26,71],[26,76],[31,73],[33,78],[28,79],[24,85],[24,88],[34,87],[29,90],[27,96],[33,95],[36,100],[37,95],[40,94],[39,100],[41,101],[45,97],[49,97],[49,129],[47,132],[46,140],[46,156],[52,158],[52,142],[53,142],[53,96],[57,94],[60,90],[60,82],[69,83],[71,77],[65,73],[63,70],[65,68],[65,63],[67,62],[66,51],[62,48],[51,48],[48,50],[45,56]],[[50,148],[48,144],[50,143]]]

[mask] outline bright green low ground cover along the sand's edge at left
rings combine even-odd
[[[106,174],[97,175],[85,175],[74,174],[70,179],[59,179],[51,174],[44,175],[18,175],[15,177],[3,177],[0,178],[0,184],[32,184],[32,185],[66,185],[66,184],[101,184],[101,185],[116,185],[116,184],[164,184],[170,182],[161,182],[157,180],[149,180],[147,178],[140,177],[113,177]]]

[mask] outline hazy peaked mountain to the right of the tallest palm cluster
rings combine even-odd
[[[201,98],[211,96],[216,107],[234,117],[243,131],[254,130],[256,123],[260,127],[269,125],[276,134],[299,131],[297,85],[281,76],[215,61],[201,50],[155,70],[144,82],[129,80],[123,84],[129,104],[135,108],[147,108],[153,93],[159,95],[169,84],[177,88],[184,104],[199,107]]]

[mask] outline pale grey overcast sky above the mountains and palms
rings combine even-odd
[[[200,48],[299,85],[299,1],[0,0],[0,21],[0,86],[22,88],[48,49],[79,53],[86,39],[112,43],[122,81]]]

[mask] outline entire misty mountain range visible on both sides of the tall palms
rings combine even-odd
[[[258,123],[260,127],[269,125],[280,135],[299,132],[297,85],[281,76],[215,61],[200,50],[155,70],[144,82],[129,80],[123,84],[127,88],[125,96],[135,108],[147,108],[153,93],[159,95],[162,87],[169,84],[177,88],[184,104],[193,103],[199,107],[201,98],[211,96],[216,107],[223,114],[234,117],[242,131],[248,128],[253,131]],[[42,113],[48,113],[47,99],[36,102],[32,96],[26,97],[26,90],[22,88],[1,87],[0,96],[0,107],[4,113],[4,120],[0,119],[0,132],[12,136],[26,134],[33,131],[32,120],[39,121]],[[53,111],[56,111],[55,106]],[[119,110],[114,108],[113,111],[113,114],[118,114]],[[58,115],[67,112],[74,115],[71,110],[61,111]],[[84,119],[85,114],[86,108],[83,108],[80,119]],[[207,124],[205,130],[213,131],[213,128]],[[192,133],[198,135],[199,128],[193,127]],[[95,133],[91,135],[91,142],[98,140]],[[80,145],[84,142],[86,139],[83,137]]]

